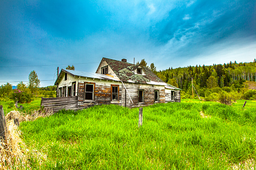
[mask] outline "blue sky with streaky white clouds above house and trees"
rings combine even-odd
[[[32,70],[40,80],[53,80],[57,66],[61,70],[72,64],[76,70],[96,72],[103,57],[129,63],[145,59],[157,70],[252,62],[255,5],[254,0],[4,0],[0,84],[28,81]],[[53,83],[41,81],[41,86]]]

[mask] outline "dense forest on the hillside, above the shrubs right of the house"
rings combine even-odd
[[[244,81],[255,81],[256,62],[250,63],[228,63],[214,64],[212,66],[188,66],[184,68],[169,68],[158,72],[164,82],[171,83],[170,79],[176,81],[176,86],[188,90],[190,84],[200,87],[240,87]],[[174,84],[173,84],[174,85]]]

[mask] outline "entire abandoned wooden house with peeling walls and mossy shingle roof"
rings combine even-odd
[[[164,83],[149,68],[140,64],[103,58],[96,73],[60,71],[56,98],[42,98],[41,105],[54,111],[82,109],[101,104],[125,107],[154,103],[180,102],[180,90]]]

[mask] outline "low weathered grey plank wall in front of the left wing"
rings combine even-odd
[[[57,112],[61,109],[76,109],[77,106],[77,96],[70,97],[52,97],[52,98],[43,98],[41,99],[41,106],[45,108],[51,108],[54,112]]]

